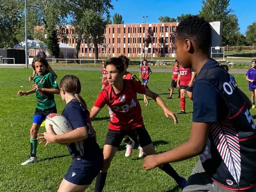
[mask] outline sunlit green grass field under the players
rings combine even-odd
[[[100,71],[56,70],[56,73],[58,82],[66,74],[78,76],[82,83],[81,96],[86,100],[89,108],[93,106],[101,88]],[[33,83],[28,81],[31,74],[31,69],[0,69],[0,191],[3,192],[57,191],[71,162],[71,156],[65,146],[50,144],[46,148],[38,145],[37,163],[20,166],[20,163],[29,157],[29,130],[36,107],[36,96],[31,94],[18,97],[16,93],[18,90],[32,88]],[[234,77],[239,88],[250,96],[244,75],[235,74]],[[172,111],[180,111],[178,99],[166,99],[169,94],[170,74],[153,71],[148,86],[164,99]],[[177,98],[177,96],[175,90],[173,97]],[[162,109],[154,100],[150,100],[149,105],[144,107],[143,97],[139,95],[138,98],[142,106],[144,124],[158,153],[170,150],[188,140],[192,121],[192,101],[186,99],[187,114],[178,115],[179,124],[175,126],[172,119],[164,116]],[[60,95],[55,96],[55,101],[58,113],[61,114],[65,104]],[[256,110],[251,112],[255,117]],[[93,121],[100,147],[103,147],[108,130],[108,116],[108,110],[104,107]],[[40,128],[39,132],[44,131],[44,128]],[[122,143],[108,170],[105,192],[181,191],[174,180],[160,169],[145,171],[142,168],[143,159],[138,158],[136,147],[130,157],[126,158],[124,153],[125,145]],[[197,160],[198,157],[194,157],[173,163],[172,166],[181,176],[188,178]],[[94,190],[94,182],[86,191]]]

